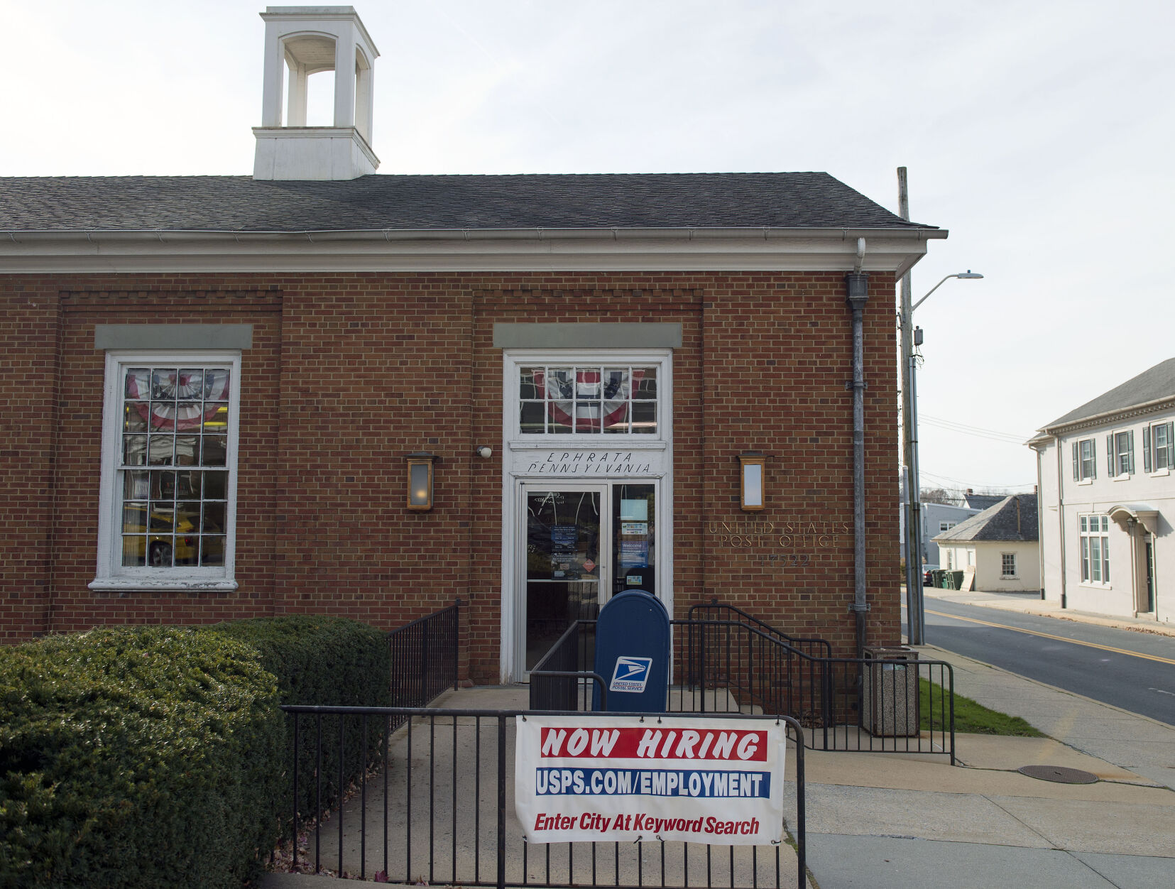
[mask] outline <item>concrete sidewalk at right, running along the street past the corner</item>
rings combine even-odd
[[[1175,885],[1175,727],[932,646],[920,651],[953,666],[956,693],[1049,737],[959,735],[956,767],[925,754],[807,751],[811,885]],[[468,689],[442,706],[509,707],[510,691]],[[1021,766],[1082,769],[1099,781],[1040,781]],[[791,788],[785,801],[793,827]],[[318,880],[273,874],[261,885]]]

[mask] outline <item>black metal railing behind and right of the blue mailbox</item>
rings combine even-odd
[[[935,753],[954,764],[954,673],[913,651],[817,656],[743,620],[674,620],[670,713],[784,715],[812,749]],[[768,628],[770,629],[770,628]],[[530,674],[530,707],[591,709],[595,621],[568,628]]]

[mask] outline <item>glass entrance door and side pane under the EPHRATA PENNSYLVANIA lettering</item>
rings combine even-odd
[[[577,620],[625,589],[657,594],[656,484],[524,484],[525,670]]]

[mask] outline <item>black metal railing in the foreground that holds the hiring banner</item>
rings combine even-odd
[[[788,867],[781,845],[703,845],[653,837],[638,842],[531,844],[513,811],[513,743],[516,717],[552,715],[528,710],[475,710],[375,707],[284,706],[294,720],[313,721],[313,755],[337,746],[344,733],[323,731],[323,722],[341,727],[358,721],[358,736],[382,731],[382,761],[354,788],[354,796],[334,811],[297,810],[289,861],[291,870],[403,884],[494,887],[781,887]],[[570,715],[570,714],[564,714]],[[579,714],[591,717],[591,714]],[[599,714],[616,717],[640,714]],[[714,718],[741,720],[741,714]],[[794,809],[785,818],[795,849],[798,884],[806,885],[804,729],[786,723],[788,758],[794,766]],[[392,733],[395,723],[407,727]],[[298,755],[297,749],[294,751]],[[794,771],[792,771],[794,769]],[[321,776],[318,777],[321,782]],[[294,778],[293,800],[321,798],[307,794]],[[309,828],[307,827],[309,825]],[[301,829],[300,829],[301,827]],[[304,833],[303,833],[304,831]]]

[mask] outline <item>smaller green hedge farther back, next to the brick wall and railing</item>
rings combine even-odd
[[[261,653],[261,664],[277,677],[282,703],[334,704],[338,707],[388,707],[391,704],[388,641],[382,630],[345,617],[291,615],[258,617],[250,621],[220,623],[212,628],[248,642]],[[298,717],[298,813],[316,814],[321,790],[323,810],[333,807],[340,795],[362,771],[380,761],[383,746],[382,720],[369,720],[364,737],[358,717],[342,720],[343,747],[340,756],[340,717],[323,716],[322,770],[317,769],[318,720]],[[286,747],[282,761],[288,773],[294,751],[294,720],[286,723]],[[338,768],[343,762],[340,786]],[[316,783],[321,775],[321,788]],[[289,783],[290,780],[287,778]],[[281,800],[283,824],[291,815],[291,797]]]

